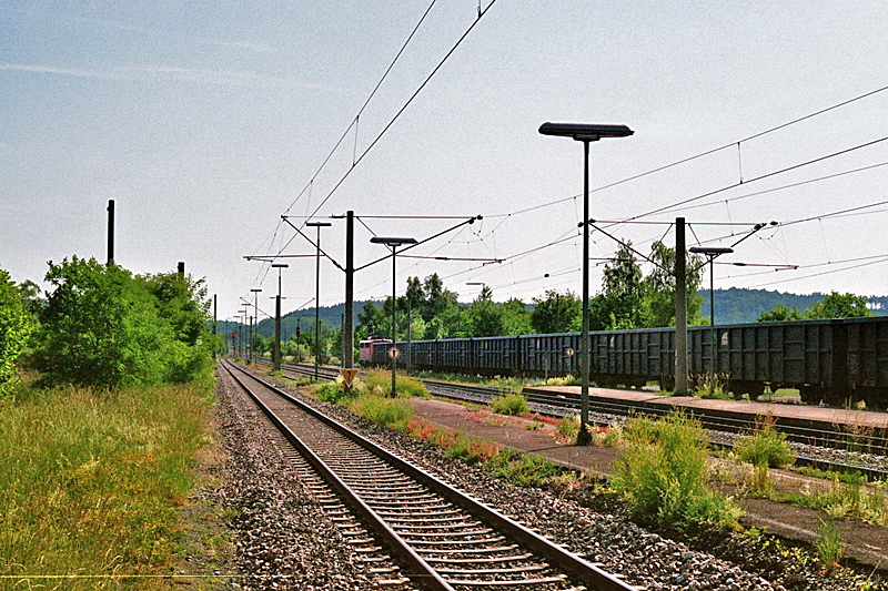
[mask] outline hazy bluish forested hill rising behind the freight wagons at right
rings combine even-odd
[[[700,289],[703,307],[700,314],[709,317],[709,289]],[[773,309],[783,304],[789,308],[796,307],[799,312],[820,302],[825,294],[814,293],[808,295],[786,294],[769,292],[767,289],[730,289],[715,291],[715,319],[718,324],[754,323],[763,310]],[[868,296],[870,309],[875,314],[888,316],[888,296]]]

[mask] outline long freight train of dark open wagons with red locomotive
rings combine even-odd
[[[797,388],[816,404],[865,400],[888,406],[888,317],[755,323],[688,328],[688,371],[713,367],[728,389],[755,397],[766,388]],[[675,329],[591,334],[591,379],[608,386],[675,383]],[[385,365],[391,340],[362,344],[365,364]],[[472,375],[579,375],[579,333],[398,342],[413,369]]]

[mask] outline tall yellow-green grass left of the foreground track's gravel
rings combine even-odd
[[[0,406],[0,589],[28,577],[151,574],[176,551],[179,507],[205,431],[195,386],[22,387]],[[70,579],[60,588],[117,588]],[[144,585],[150,587],[150,582]]]

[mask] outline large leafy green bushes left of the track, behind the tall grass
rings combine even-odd
[[[132,276],[118,265],[50,262],[34,365],[50,384],[125,386],[210,379],[201,282]]]

